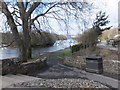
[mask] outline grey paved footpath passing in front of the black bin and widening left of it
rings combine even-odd
[[[61,59],[49,58],[48,68],[40,72],[32,74],[33,76],[45,79],[57,79],[57,78],[82,78],[98,81],[104,85],[108,85],[113,88],[118,88],[120,81],[110,77],[106,77],[100,74],[89,73],[77,68],[68,67],[60,63]]]

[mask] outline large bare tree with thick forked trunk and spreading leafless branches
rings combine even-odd
[[[22,62],[31,58],[31,30],[52,29],[49,19],[55,19],[58,24],[64,23],[69,27],[70,18],[80,21],[83,13],[91,9],[91,5],[84,0],[80,2],[23,2],[21,0],[21,2],[0,1],[0,3]],[[22,38],[19,35],[19,27],[23,32]]]

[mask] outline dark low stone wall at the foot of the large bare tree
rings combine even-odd
[[[20,63],[17,58],[4,59],[0,62],[2,63],[2,75],[5,74],[28,74],[34,71],[40,70],[47,65],[47,58],[30,60],[26,63]]]

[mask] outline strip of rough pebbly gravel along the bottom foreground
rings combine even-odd
[[[38,79],[30,82],[14,84],[14,87],[45,87],[45,88],[106,88],[109,87],[87,79]]]

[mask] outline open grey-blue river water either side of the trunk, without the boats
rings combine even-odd
[[[63,50],[68,46],[51,46],[51,47],[34,47],[32,48],[32,56],[35,56],[44,52],[56,52],[58,50]],[[0,60],[8,58],[17,58],[19,56],[19,51],[17,48],[0,48]]]

